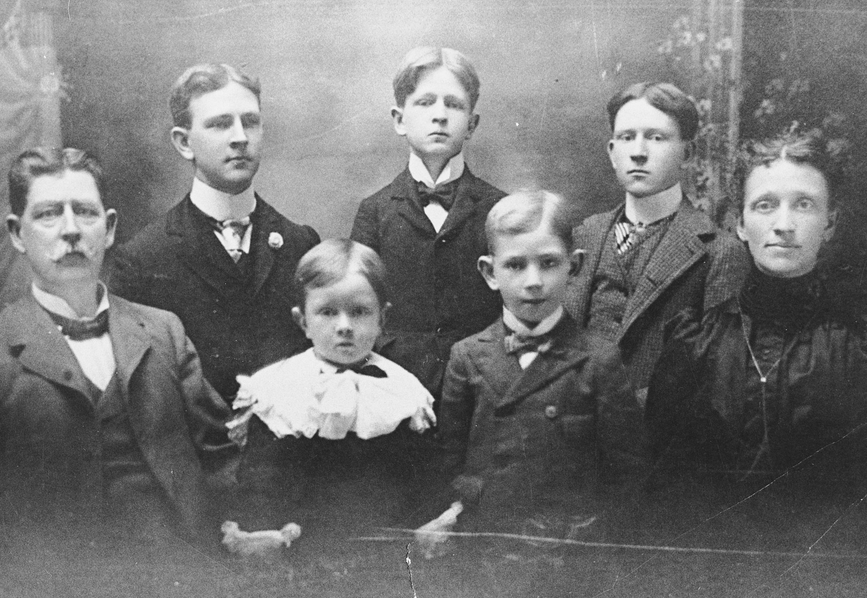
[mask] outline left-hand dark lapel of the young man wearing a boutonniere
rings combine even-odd
[[[187,194],[166,215],[166,231],[180,261],[225,296],[230,290],[226,280],[239,276],[238,269],[216,235],[201,234],[201,224],[193,218],[192,209]]]

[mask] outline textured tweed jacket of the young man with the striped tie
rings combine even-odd
[[[618,211],[591,216],[574,231],[576,247],[586,254],[565,305],[582,325],[590,319],[593,276]],[[735,296],[749,263],[743,244],[684,198],[629,297],[616,338],[636,389],[649,384],[662,353],[665,324],[681,309],[702,313]]]

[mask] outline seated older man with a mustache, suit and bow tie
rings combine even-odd
[[[205,474],[237,455],[230,412],[178,318],[100,282],[117,221],[101,185],[72,148],[29,150],[10,170],[6,224],[33,284],[0,314],[0,521],[196,537]]]

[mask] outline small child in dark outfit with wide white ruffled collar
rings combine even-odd
[[[245,510],[267,519],[248,527],[279,525],[279,511],[303,497],[311,475],[327,473],[331,484],[399,461],[411,452],[407,429],[424,432],[436,421],[419,380],[373,352],[388,308],[374,250],[324,241],[298,263],[295,285],[292,315],[313,347],[238,376],[233,406],[242,413],[230,428],[247,445],[239,483]]]

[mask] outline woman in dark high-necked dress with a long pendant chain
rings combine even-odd
[[[737,233],[753,267],[740,296],[669,323],[646,412],[656,483],[674,471],[762,484],[786,472],[818,491],[829,487],[818,479],[862,475],[864,321],[831,302],[817,265],[842,183],[832,147],[813,131],[742,151]]]

